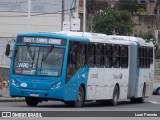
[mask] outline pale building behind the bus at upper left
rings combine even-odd
[[[64,0],[64,18],[78,11],[79,0]],[[28,19],[28,0],[0,0],[0,77],[8,78],[10,59],[5,46],[20,32],[54,32],[61,30],[62,0],[31,0]],[[28,24],[30,27],[28,28]],[[6,71],[5,71],[5,70]]]

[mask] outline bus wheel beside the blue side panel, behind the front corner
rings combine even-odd
[[[77,100],[73,102],[75,107],[82,107],[84,104],[84,89],[82,86],[78,90]]]

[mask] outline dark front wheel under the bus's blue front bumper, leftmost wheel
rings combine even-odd
[[[37,106],[39,100],[37,98],[25,97],[26,104],[28,106]]]

